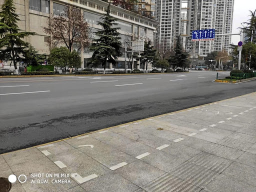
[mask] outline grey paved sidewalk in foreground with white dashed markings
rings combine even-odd
[[[251,93],[2,154],[0,177],[19,177],[11,192],[255,192],[255,111]]]

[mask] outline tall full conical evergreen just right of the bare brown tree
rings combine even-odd
[[[105,17],[101,17],[101,22],[98,21],[98,25],[102,26],[102,30],[95,32],[96,38],[90,46],[90,50],[93,51],[91,57],[92,63],[100,60],[104,65],[104,73],[107,61],[115,64],[117,57],[122,55],[121,37],[120,33],[117,32],[120,28],[114,27],[118,25],[115,23],[117,19],[110,16],[109,13],[110,3],[107,6]]]

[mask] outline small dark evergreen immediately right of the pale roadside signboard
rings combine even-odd
[[[144,51],[140,54],[140,63],[143,64],[143,69],[147,70],[148,62],[155,62],[157,60],[156,57],[156,49],[154,49],[153,45],[151,45],[151,41],[144,42]]]

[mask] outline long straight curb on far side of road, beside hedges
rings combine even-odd
[[[148,73],[122,73],[122,74],[6,75],[6,76],[0,76],[0,78],[44,77],[44,76],[115,76],[115,75],[143,75],[143,74],[168,74],[168,73],[189,73],[189,72],[148,72]]]

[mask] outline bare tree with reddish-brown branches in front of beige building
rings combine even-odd
[[[50,36],[49,47],[65,44],[70,52],[74,43],[78,43],[80,49],[86,47],[90,40],[90,29],[81,10],[70,5],[66,6],[64,13],[52,14],[48,26],[43,29]]]

